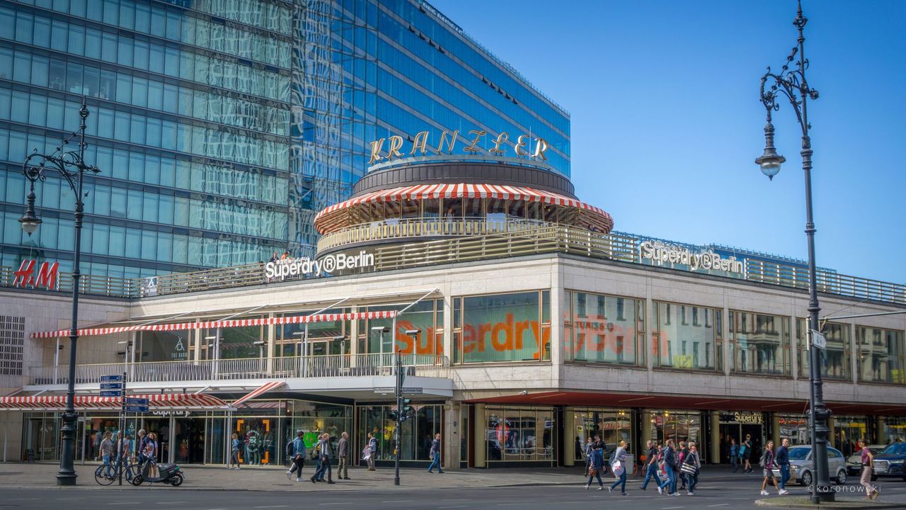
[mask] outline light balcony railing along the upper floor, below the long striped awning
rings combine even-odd
[[[404,354],[401,361],[409,375],[448,377],[449,361],[445,356]],[[394,373],[394,365],[393,354],[102,363],[77,365],[75,384],[100,383],[103,376],[120,374],[126,374],[126,380],[131,383],[389,376]],[[68,383],[69,371],[65,366],[33,367],[29,373],[32,385]]]

